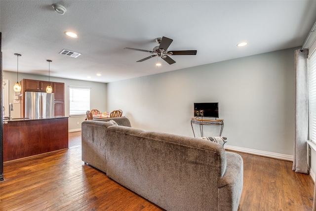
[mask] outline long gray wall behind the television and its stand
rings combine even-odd
[[[193,136],[193,103],[219,102],[229,145],[293,155],[294,50],[109,83],[107,108],[132,127]],[[218,126],[204,131],[219,135]]]

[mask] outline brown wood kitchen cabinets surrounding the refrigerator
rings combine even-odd
[[[55,116],[65,116],[65,84],[60,82],[47,82],[47,81],[38,81],[32,79],[23,79],[20,82],[22,89],[20,97],[21,105],[21,117],[25,117],[25,92],[26,91],[39,91],[46,92],[46,86],[48,84],[53,88],[53,93],[55,94],[55,106],[54,113]]]

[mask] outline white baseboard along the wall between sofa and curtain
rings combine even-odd
[[[266,152],[266,151],[261,151],[261,150],[248,149],[248,148],[236,147],[236,146],[230,146],[230,145],[225,145],[224,148],[228,150],[232,150],[232,151],[237,151],[237,152],[244,152],[244,153],[253,154],[253,155],[276,158],[279,160],[293,161],[292,155],[283,155],[283,154],[278,154],[274,152]]]

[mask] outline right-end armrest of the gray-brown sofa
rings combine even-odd
[[[243,161],[240,155],[226,152],[226,171],[218,180],[218,204],[223,211],[237,211],[243,184]]]

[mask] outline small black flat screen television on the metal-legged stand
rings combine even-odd
[[[218,103],[194,103],[194,116],[218,118]]]

